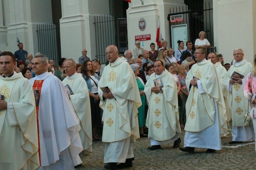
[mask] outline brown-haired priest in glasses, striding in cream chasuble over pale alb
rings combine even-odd
[[[198,62],[187,73],[186,85],[189,96],[186,102],[183,152],[193,153],[195,148],[206,148],[207,153],[221,150],[221,132],[227,131],[226,106],[216,69],[206,60],[206,49],[198,47]]]

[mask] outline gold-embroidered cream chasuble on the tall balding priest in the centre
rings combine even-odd
[[[115,98],[102,98],[100,87],[108,86]],[[101,99],[100,107],[104,110],[102,120],[103,142],[114,142],[131,137],[135,142],[139,138],[138,108],[142,105],[139,88],[134,73],[127,62],[117,60],[103,70],[98,83]]]

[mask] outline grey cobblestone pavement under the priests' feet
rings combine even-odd
[[[185,131],[180,135],[183,147]],[[254,142],[239,145],[229,145],[231,129],[222,137],[222,150],[215,153],[205,153],[206,149],[196,148],[194,154],[173,149],[173,143],[163,145],[162,149],[151,151],[147,147],[150,141],[147,138],[138,139],[133,143],[133,167],[127,169],[256,169],[256,153]],[[102,170],[104,143],[93,143],[93,155],[82,157],[83,167],[78,170]]]

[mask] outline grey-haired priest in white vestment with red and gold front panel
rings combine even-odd
[[[30,79],[33,89],[39,90],[39,169],[74,169],[82,163],[79,153],[83,146],[77,121],[67,91],[52,72],[47,72],[48,58],[37,55],[33,59]],[[38,100],[36,101],[36,105]]]

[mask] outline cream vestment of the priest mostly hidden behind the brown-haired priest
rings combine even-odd
[[[225,67],[222,66],[220,62],[215,63],[214,66],[216,68],[216,72],[219,78],[219,84],[221,85],[221,89],[222,89],[222,93],[223,93],[223,97],[224,97],[224,101],[227,109],[227,123],[228,123],[231,120],[231,110],[228,104],[228,90],[226,87],[227,85],[224,84],[224,77],[227,74],[227,70],[225,69]]]

